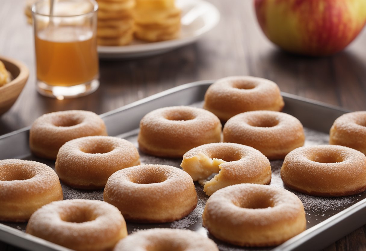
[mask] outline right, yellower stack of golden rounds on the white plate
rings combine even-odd
[[[135,36],[150,42],[175,39],[180,33],[180,12],[174,0],[136,0]]]

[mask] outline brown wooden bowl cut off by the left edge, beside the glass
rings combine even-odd
[[[27,83],[29,70],[23,63],[5,57],[0,57],[5,68],[11,73],[12,81],[0,87],[0,115],[7,112],[18,98]]]

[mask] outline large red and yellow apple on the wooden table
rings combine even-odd
[[[366,22],[366,0],[255,0],[254,5],[268,39],[295,54],[341,51]]]

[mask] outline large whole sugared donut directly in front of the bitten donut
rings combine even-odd
[[[306,229],[304,207],[294,193],[258,184],[218,190],[202,219],[217,239],[247,247],[279,245]]]

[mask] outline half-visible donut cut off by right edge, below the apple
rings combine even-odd
[[[336,119],[330,128],[329,144],[366,154],[366,111],[346,113]]]

